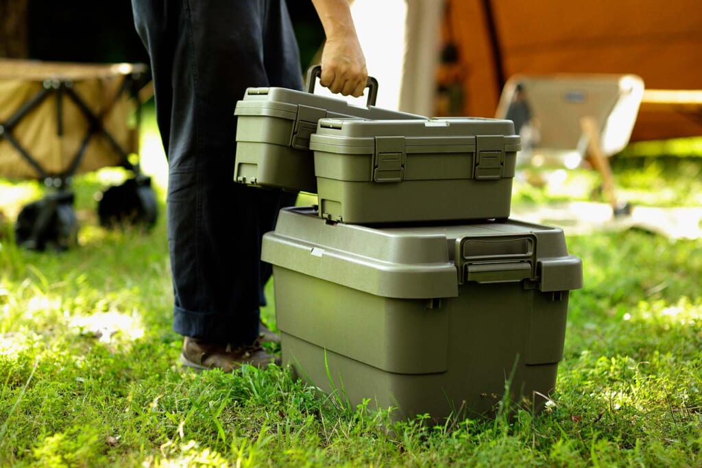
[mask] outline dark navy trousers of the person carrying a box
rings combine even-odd
[[[249,86],[301,89],[284,0],[132,0],[168,157],[173,328],[213,343],[258,336],[270,265],[261,236],[294,194],[233,182],[234,107]]]

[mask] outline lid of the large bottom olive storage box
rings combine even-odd
[[[461,283],[582,287],[581,260],[561,229],[517,220],[364,227],[327,222],[314,207],[281,210],[262,260],[383,297],[456,297]]]

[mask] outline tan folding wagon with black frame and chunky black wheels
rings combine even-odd
[[[20,212],[18,243],[37,250],[47,243],[67,247],[77,232],[72,178],[106,166],[133,173],[127,188],[134,187],[136,205],[121,203],[116,212],[101,201],[100,222],[108,225],[131,216],[132,221],[154,223],[150,179],[130,159],[138,155],[140,91],[148,77],[146,67],[138,64],[0,60],[0,175],[41,180],[56,192]]]

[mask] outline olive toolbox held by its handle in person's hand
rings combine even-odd
[[[310,193],[317,193],[310,135],[317,131],[319,119],[426,119],[287,88],[247,89],[234,115],[238,117],[234,180]]]

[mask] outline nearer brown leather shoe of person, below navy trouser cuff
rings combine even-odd
[[[185,337],[183,340],[180,363],[197,370],[219,368],[227,373],[245,364],[262,369],[267,368],[271,363],[280,364],[279,359],[274,359],[271,354],[265,352],[258,342],[249,346],[232,347],[209,345],[191,337]]]

